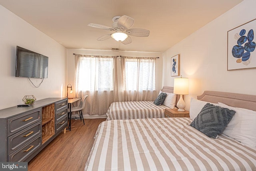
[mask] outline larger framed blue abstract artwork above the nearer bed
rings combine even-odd
[[[228,31],[228,70],[256,68],[256,19]]]

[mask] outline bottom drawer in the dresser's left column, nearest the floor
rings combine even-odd
[[[25,161],[30,154],[36,151],[42,143],[42,134],[38,135],[36,138],[29,141],[28,144],[22,146],[14,153],[8,155],[8,161],[21,162]]]

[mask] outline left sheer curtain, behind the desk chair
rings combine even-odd
[[[118,101],[115,56],[75,55],[76,97],[88,95],[84,114],[106,114]]]

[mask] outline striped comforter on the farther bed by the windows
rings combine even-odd
[[[164,117],[165,105],[157,106],[154,101],[122,101],[114,102],[106,113],[107,120],[141,119]]]

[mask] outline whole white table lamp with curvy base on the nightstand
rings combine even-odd
[[[178,111],[185,111],[184,108],[186,106],[183,95],[188,95],[188,78],[174,78],[174,94],[179,94],[180,99],[177,103]]]

